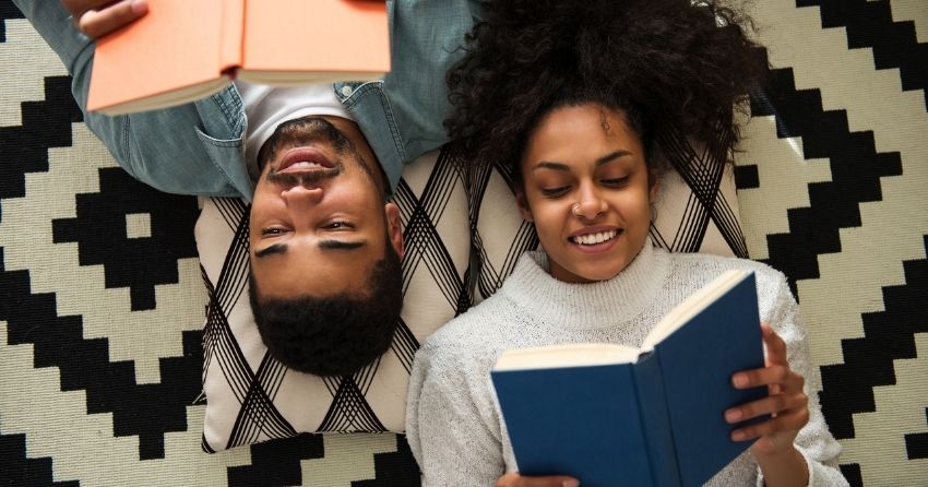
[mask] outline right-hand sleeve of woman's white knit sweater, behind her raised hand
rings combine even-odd
[[[822,411],[819,406],[819,370],[812,364],[806,337],[806,329],[799,316],[799,307],[793,298],[786,280],[776,273],[776,284],[771,286],[775,293],[770,296],[769,312],[764,319],[786,342],[786,358],[789,367],[806,379],[805,392],[809,397],[809,423],[799,430],[795,446],[806,460],[809,470],[809,486],[846,486],[847,480],[837,468],[841,446],[829,432]],[[763,297],[761,299],[764,300]],[[758,468],[758,487],[764,485],[763,475]]]

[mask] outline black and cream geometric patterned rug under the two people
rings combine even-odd
[[[748,250],[797,293],[852,485],[928,485],[928,2],[753,14],[777,69],[736,170]],[[0,485],[417,485],[395,435],[201,451],[197,200],[119,169],[0,21]]]

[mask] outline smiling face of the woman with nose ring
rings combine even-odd
[[[595,104],[551,110],[528,138],[522,175],[516,201],[555,278],[611,278],[644,246],[657,180],[621,111]]]

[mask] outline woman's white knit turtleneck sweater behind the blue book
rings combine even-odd
[[[847,485],[837,471],[841,447],[819,409],[818,369],[781,273],[753,261],[667,253],[651,245],[600,283],[557,281],[547,266],[540,252],[522,256],[499,292],[442,326],[416,354],[406,432],[424,486],[491,486],[519,470],[490,384],[490,368],[502,351],[581,342],[638,347],[674,306],[736,268],[756,271],[761,318],[786,342],[790,367],[806,378],[810,419],[796,446],[808,463],[809,484]],[[763,479],[745,452],[707,485],[762,486]]]

